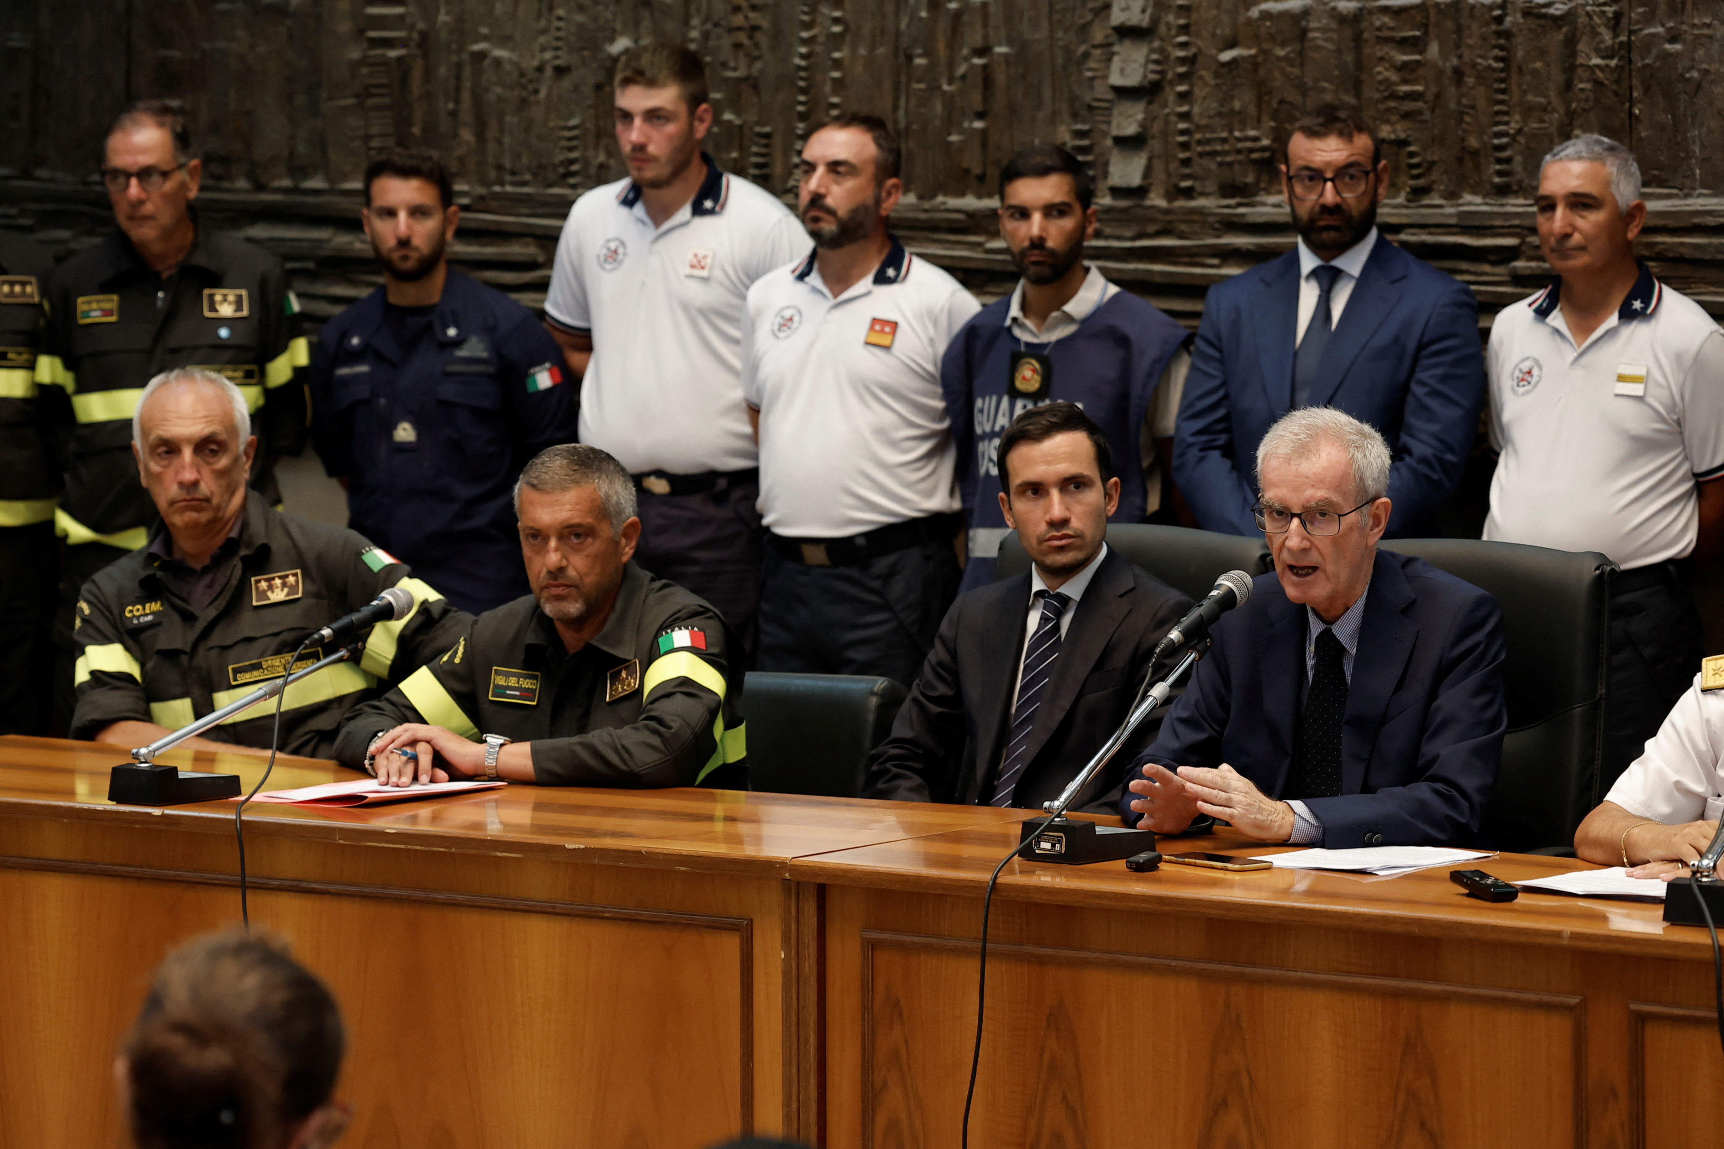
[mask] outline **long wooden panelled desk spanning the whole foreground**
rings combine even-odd
[[[110,806],[119,760],[0,739],[0,1146],[119,1144],[109,1065],[150,972],[238,920],[233,804]],[[338,777],[283,758],[271,789]],[[945,1147],[1021,818],[517,786],[252,806],[247,856],[253,923],[341,1001],[347,1144]],[[1177,844],[1205,846],[1260,853]],[[991,935],[978,1147],[1717,1142],[1710,946],[1657,906],[1017,861]]]

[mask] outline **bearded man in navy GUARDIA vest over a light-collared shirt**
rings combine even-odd
[[[1065,400],[1102,425],[1119,463],[1119,522],[1143,522],[1150,488],[1141,444],[1157,384],[1183,376],[1186,331],[1083,262],[1095,238],[1095,184],[1083,162],[1038,143],[1000,169],[1000,236],[1022,279],[946,348],[940,386],[952,415],[959,493],[969,525],[960,589],[993,581],[1010,527],[1000,510],[1000,436],[1031,407]],[[1159,479],[1157,472],[1157,479]]]

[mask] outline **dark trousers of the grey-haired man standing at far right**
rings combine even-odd
[[[1610,672],[1598,796],[1640,758],[1695,680],[1705,632],[1690,575],[1676,560],[1617,574],[1610,587]]]

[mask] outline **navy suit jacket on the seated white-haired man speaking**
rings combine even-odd
[[[1214,648],[1133,763],[1229,763],[1286,792],[1305,689],[1307,612],[1274,574],[1210,630]],[[1496,599],[1410,555],[1377,551],[1341,724],[1341,794],[1303,799],[1322,846],[1471,846],[1496,784],[1508,710]],[[1121,813],[1134,794],[1121,799]]]

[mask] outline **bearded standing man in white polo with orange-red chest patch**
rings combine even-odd
[[[981,308],[886,231],[902,195],[883,121],[826,124],[802,150],[814,252],[748,289],[743,394],[769,532],[762,670],[909,686],[957,593],[940,360]]]

